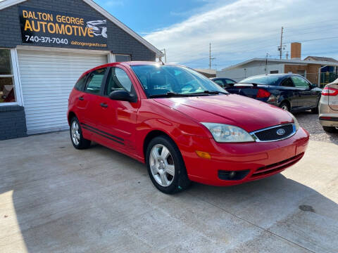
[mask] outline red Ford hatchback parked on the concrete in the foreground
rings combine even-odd
[[[277,174],[301,160],[309,138],[289,112],[227,93],[187,67],[148,62],[84,72],[68,122],[75,148],[95,141],[146,163],[163,193]]]

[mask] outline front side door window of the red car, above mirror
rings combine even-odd
[[[112,91],[123,89],[130,92],[132,90],[132,82],[124,70],[118,67],[112,67],[108,76],[105,95],[109,95]]]

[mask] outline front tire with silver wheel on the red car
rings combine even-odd
[[[162,193],[177,193],[190,185],[180,150],[167,136],[150,141],[146,149],[146,166],[151,181]]]

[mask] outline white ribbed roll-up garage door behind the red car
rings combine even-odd
[[[105,54],[18,50],[27,134],[68,129],[68,96],[80,75]]]

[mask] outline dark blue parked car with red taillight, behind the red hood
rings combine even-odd
[[[277,105],[289,112],[318,112],[322,89],[299,74],[262,74],[226,88],[230,93]]]

